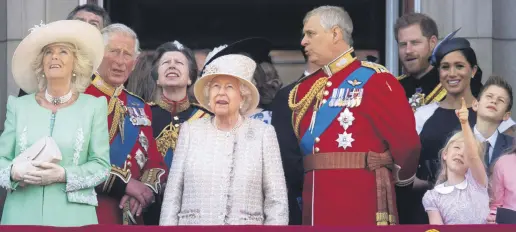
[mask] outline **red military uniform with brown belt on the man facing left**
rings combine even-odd
[[[305,157],[303,224],[396,224],[393,182],[413,182],[420,150],[396,78],[351,48],[301,80],[289,106]]]

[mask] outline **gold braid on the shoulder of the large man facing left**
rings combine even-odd
[[[318,102],[321,101],[323,98],[323,90],[326,86],[326,83],[328,82],[328,77],[321,77],[319,78],[313,85],[312,88],[306,93],[305,96],[299,101],[296,102],[295,95],[297,94],[297,89],[299,88],[299,85],[296,85],[292,91],[290,91],[288,96],[288,106],[293,112],[293,126],[294,126],[294,133],[296,134],[296,137],[299,139],[299,125],[301,124],[301,119],[305,116],[306,112],[308,111],[308,108],[314,101],[314,99],[317,99],[316,104],[314,105],[314,111],[317,111],[318,109]],[[294,116],[295,114],[295,116]]]

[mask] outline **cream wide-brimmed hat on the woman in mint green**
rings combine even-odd
[[[71,43],[87,55],[93,65],[91,74],[104,57],[104,41],[99,29],[79,20],[60,20],[36,25],[16,50],[12,60],[14,81],[26,93],[38,91],[38,79],[32,64],[42,49],[52,43]],[[91,75],[90,75],[91,76]]]

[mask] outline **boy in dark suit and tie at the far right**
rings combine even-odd
[[[490,167],[512,147],[513,138],[499,132],[500,124],[511,117],[512,87],[502,77],[491,76],[477,99],[473,102],[473,110],[477,112],[474,133],[484,143],[484,163]]]

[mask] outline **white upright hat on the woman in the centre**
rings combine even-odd
[[[206,66],[203,76],[195,82],[195,98],[201,106],[212,111],[208,105],[209,100],[205,95],[206,86],[217,76],[231,76],[237,78],[240,83],[251,91],[251,96],[245,99],[245,112],[242,112],[246,115],[248,112],[256,109],[260,102],[260,94],[252,82],[255,69],[256,63],[244,55],[231,54],[218,57]]]

